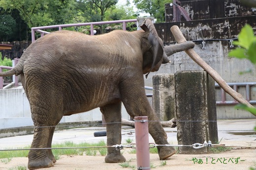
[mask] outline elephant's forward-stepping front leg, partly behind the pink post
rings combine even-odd
[[[149,120],[149,133],[155,140],[155,143],[159,145],[168,145],[167,135],[146,97],[143,80],[134,78],[132,85],[130,82],[131,81],[124,82],[121,86],[123,89],[121,92],[122,101],[128,114],[131,117],[147,116]],[[158,146],[160,160],[172,156],[175,152],[176,150],[173,147]]]

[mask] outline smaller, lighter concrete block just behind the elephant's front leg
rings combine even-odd
[[[174,74],[153,76],[153,108],[160,121],[176,117]]]

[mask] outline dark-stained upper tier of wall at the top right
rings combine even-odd
[[[179,0],[191,20],[205,20],[256,15],[251,7],[240,0]],[[165,22],[173,21],[173,4],[165,4]],[[181,16],[181,21],[186,21]]]

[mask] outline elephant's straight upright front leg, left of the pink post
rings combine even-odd
[[[100,111],[104,116],[107,127],[107,146],[121,144],[121,105],[118,101],[114,104],[108,104],[100,107]],[[114,147],[107,148],[106,163],[126,162],[126,158],[121,155],[120,149]]]

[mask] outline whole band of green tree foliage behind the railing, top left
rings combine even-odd
[[[134,0],[140,11],[154,16],[157,22],[164,21],[164,3],[170,1]],[[0,25],[0,41],[29,40],[30,30],[35,26],[126,20],[139,16],[130,0],[125,5],[117,5],[117,2],[118,0],[0,0],[0,16],[9,18],[5,25]],[[0,18],[0,23],[2,20]],[[132,24],[129,26],[132,28]],[[86,26],[66,29],[88,33]],[[104,29],[101,27],[101,30]]]

